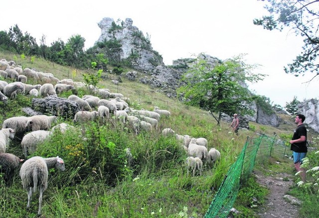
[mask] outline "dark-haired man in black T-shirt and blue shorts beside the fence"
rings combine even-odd
[[[293,151],[294,155],[294,163],[297,172],[300,172],[301,179],[306,181],[306,172],[305,170],[300,169],[300,165],[303,163],[302,159],[306,157],[307,154],[307,128],[304,125],[306,117],[303,114],[296,115],[295,123],[297,124],[297,128],[294,132],[293,139],[290,140],[290,150]]]

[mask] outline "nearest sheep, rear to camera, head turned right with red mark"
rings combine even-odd
[[[54,167],[60,171],[65,170],[64,161],[59,156],[50,158],[31,157],[21,166],[19,175],[22,180],[23,189],[28,194],[27,209],[30,208],[32,193],[37,190],[37,187],[39,188],[38,215],[41,215],[42,195],[48,186],[48,170]]]

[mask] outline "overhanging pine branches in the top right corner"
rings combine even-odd
[[[319,75],[319,0],[267,0],[267,2],[265,8],[270,15],[254,19],[254,24],[262,25],[268,30],[281,31],[285,26],[290,27],[296,35],[304,37],[304,51],[284,69],[286,73],[295,76],[312,72],[315,73],[315,78]]]

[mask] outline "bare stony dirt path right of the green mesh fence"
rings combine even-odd
[[[297,218],[298,205],[293,205],[284,199],[289,187],[294,185],[294,178],[287,173],[278,173],[275,176],[265,176],[254,172],[259,184],[270,191],[266,208],[259,213],[261,218]]]

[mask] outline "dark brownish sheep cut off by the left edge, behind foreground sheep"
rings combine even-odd
[[[15,169],[23,160],[14,154],[0,153],[0,173],[4,173],[4,181],[7,185],[11,184],[11,178]]]

